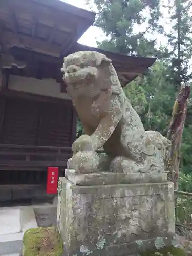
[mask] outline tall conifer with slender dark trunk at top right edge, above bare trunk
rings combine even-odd
[[[173,79],[177,90],[180,91],[181,83],[188,82],[191,78],[189,61],[192,57],[192,2],[190,0],[174,0],[167,6],[170,13],[172,30],[166,34],[168,45],[171,48],[170,63]]]

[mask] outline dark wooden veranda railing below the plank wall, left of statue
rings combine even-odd
[[[65,168],[71,154],[71,147],[0,144],[0,170],[24,168],[26,171],[38,171],[47,170],[48,166]]]

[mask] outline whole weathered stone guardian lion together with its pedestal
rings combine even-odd
[[[170,244],[174,188],[164,172],[170,141],[145,131],[105,55],[70,54],[62,71],[86,133],[73,143],[59,180],[65,255],[131,256]]]

